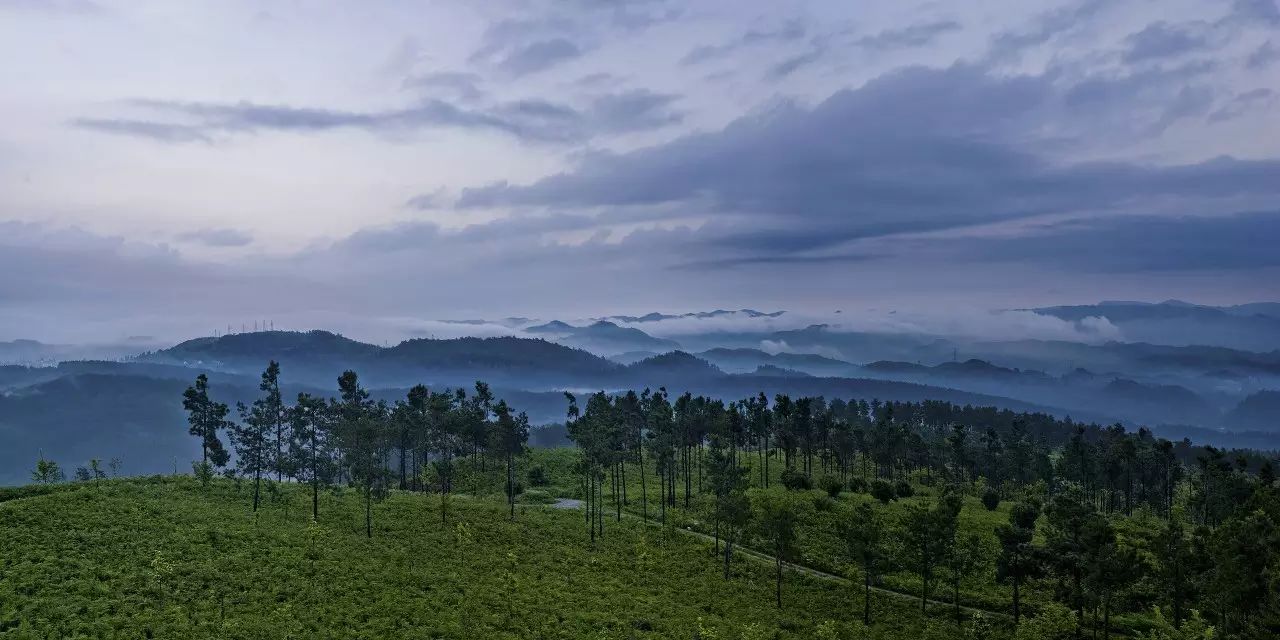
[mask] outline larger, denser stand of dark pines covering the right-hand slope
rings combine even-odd
[[[897,518],[873,503],[849,512],[840,535],[865,602],[877,576],[896,566],[919,577],[922,611],[931,588],[947,588],[959,621],[963,585],[991,564],[1011,586],[1015,625],[1036,584],[1096,636],[1110,637],[1115,613],[1152,608],[1172,627],[1194,618],[1233,636],[1280,631],[1280,492],[1274,463],[1256,452],[931,401],[762,393],[726,403],[689,393],[672,401],[666,389],[600,392],[585,406],[566,398],[593,540],[609,511],[621,520],[623,504],[639,502],[641,517],[666,525],[669,509],[709,499],[699,513],[709,513],[717,548],[723,541],[726,576],[732,545],[750,536],[777,562],[780,605],[782,566],[804,535],[786,490],[851,490],[887,504],[920,484],[937,499],[911,502]],[[627,495],[628,472],[640,476],[640,495]],[[963,531],[965,495],[987,509],[1014,500],[1009,522],[984,535]],[[1146,538],[1120,534],[1130,516],[1144,518]],[[869,604],[863,614],[869,622]]]

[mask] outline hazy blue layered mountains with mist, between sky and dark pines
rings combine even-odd
[[[410,339],[388,347],[323,330],[228,334],[164,348],[146,339],[109,347],[4,342],[0,484],[22,480],[40,452],[78,465],[150,447],[160,457],[133,472],[164,471],[156,460],[165,457],[183,466],[193,448],[182,389],[207,372],[220,401],[250,401],[270,360],[282,364],[288,394],[333,394],[348,369],[385,399],[419,383],[440,389],[484,380],[538,424],[563,419],[562,390],[666,387],[726,399],[759,392],[940,399],[1149,425],[1169,436],[1226,445],[1262,447],[1280,434],[1280,339],[1267,342],[1280,326],[1277,303],[1103,302],[1034,312],[1068,323],[1106,319],[1126,339],[1152,342],[972,340],[826,324],[776,330],[772,319],[782,311],[754,310],[585,324],[507,319],[506,326],[524,337]],[[700,333],[684,329],[698,323],[681,321],[678,342],[626,326],[654,323],[646,329],[658,332],[663,320],[726,315],[764,321],[714,321]],[[1193,342],[1175,340],[1196,332],[1201,337]]]

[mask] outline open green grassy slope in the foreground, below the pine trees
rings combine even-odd
[[[585,540],[580,511],[396,493],[364,536],[357,495],[319,524],[285,486],[192,479],[87,483],[0,503],[0,637],[955,637],[910,603],[739,562],[637,521]]]

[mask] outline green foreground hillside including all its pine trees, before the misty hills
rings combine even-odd
[[[15,603],[0,609],[0,631],[1280,631],[1270,462],[947,403],[672,402],[664,389],[582,404],[566,393],[577,448],[529,451],[527,417],[484,383],[470,394],[419,385],[388,404],[347,371],[338,398],[301,394],[288,406],[278,376],[271,362],[241,424],[225,420],[207,380],[188,389],[191,433],[206,452],[193,480],[105,480],[86,468],[59,485],[60,470],[40,461],[42,484],[3,507],[19,541],[0,557],[0,595]],[[229,462],[223,434],[236,460],[216,477]],[[131,527],[146,541],[125,541]],[[150,545],[142,556],[140,544]],[[56,584],[95,580],[67,600],[78,604],[54,595]],[[114,626],[77,627],[84,616]]]

